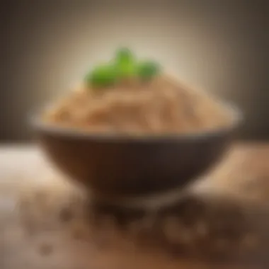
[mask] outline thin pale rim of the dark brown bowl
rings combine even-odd
[[[233,103],[220,102],[227,113],[231,114],[231,122],[223,127],[208,128],[207,130],[201,130],[200,132],[190,132],[190,133],[160,133],[160,134],[149,134],[149,135],[130,135],[117,132],[89,132],[86,130],[81,130],[76,127],[63,127],[55,125],[50,122],[45,122],[41,118],[41,114],[44,110],[39,110],[39,113],[30,113],[28,116],[28,122],[30,126],[33,127],[35,132],[39,132],[46,135],[54,135],[57,137],[69,137],[75,139],[95,139],[100,141],[122,141],[122,142],[156,142],[165,140],[186,140],[186,139],[205,139],[208,137],[215,137],[222,133],[231,132],[236,127],[238,127],[241,122],[244,121],[244,115],[242,111]]]

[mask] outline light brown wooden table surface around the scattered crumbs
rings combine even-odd
[[[0,268],[3,269],[132,269],[132,268],[248,268],[246,265],[210,265],[183,262],[162,255],[101,251],[72,241],[62,234],[38,234],[29,241],[18,222],[16,202],[27,188],[52,186],[64,193],[66,185],[57,181],[57,172],[31,146],[0,147]],[[64,186],[64,187],[63,187]],[[196,195],[224,195],[246,199],[266,207],[269,205],[269,144],[236,144],[205,181],[193,187]],[[263,218],[266,217],[266,210]],[[269,210],[268,210],[269,215]],[[255,217],[256,218],[256,217]],[[263,219],[256,219],[263,222]],[[268,230],[269,235],[269,227]],[[265,236],[265,235],[264,235]],[[54,253],[47,257],[37,251],[42,240],[54,242]],[[268,246],[269,253],[269,246]],[[249,268],[268,268],[260,263]]]

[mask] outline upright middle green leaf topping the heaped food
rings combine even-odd
[[[127,48],[122,48],[116,52],[115,69],[120,79],[135,76],[135,55]]]

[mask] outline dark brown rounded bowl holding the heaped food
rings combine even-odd
[[[193,135],[96,135],[32,118],[45,152],[67,176],[105,195],[147,195],[181,188],[212,167],[241,120]]]

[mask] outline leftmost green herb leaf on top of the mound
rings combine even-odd
[[[86,84],[96,88],[111,86],[115,83],[117,74],[112,65],[102,65],[96,67],[86,75]]]

